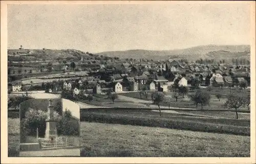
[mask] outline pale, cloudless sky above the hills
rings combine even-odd
[[[249,4],[8,5],[8,48],[99,53],[250,44]]]

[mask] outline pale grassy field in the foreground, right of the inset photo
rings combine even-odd
[[[249,157],[250,137],[81,122],[83,157]]]

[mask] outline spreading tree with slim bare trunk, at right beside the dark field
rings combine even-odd
[[[244,105],[244,97],[239,95],[230,94],[227,97],[227,101],[225,102],[225,108],[234,108],[236,109],[236,116],[238,119],[238,111],[237,109]]]

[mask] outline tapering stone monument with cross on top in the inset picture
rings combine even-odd
[[[45,138],[56,138],[57,137],[57,122],[54,120],[53,116],[53,105],[52,100],[49,100],[50,104],[48,106],[48,119],[46,120],[46,134]]]

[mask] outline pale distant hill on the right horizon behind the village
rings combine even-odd
[[[109,51],[101,52],[97,55],[119,57],[119,58],[133,58],[133,59],[155,59],[161,60],[170,58],[186,58],[188,60],[214,58],[223,59],[236,58],[241,56],[250,57],[245,51],[250,51],[250,45],[200,45],[193,48],[180,49],[180,50],[164,50],[164,51],[151,51],[151,50],[127,50],[127,51]]]

